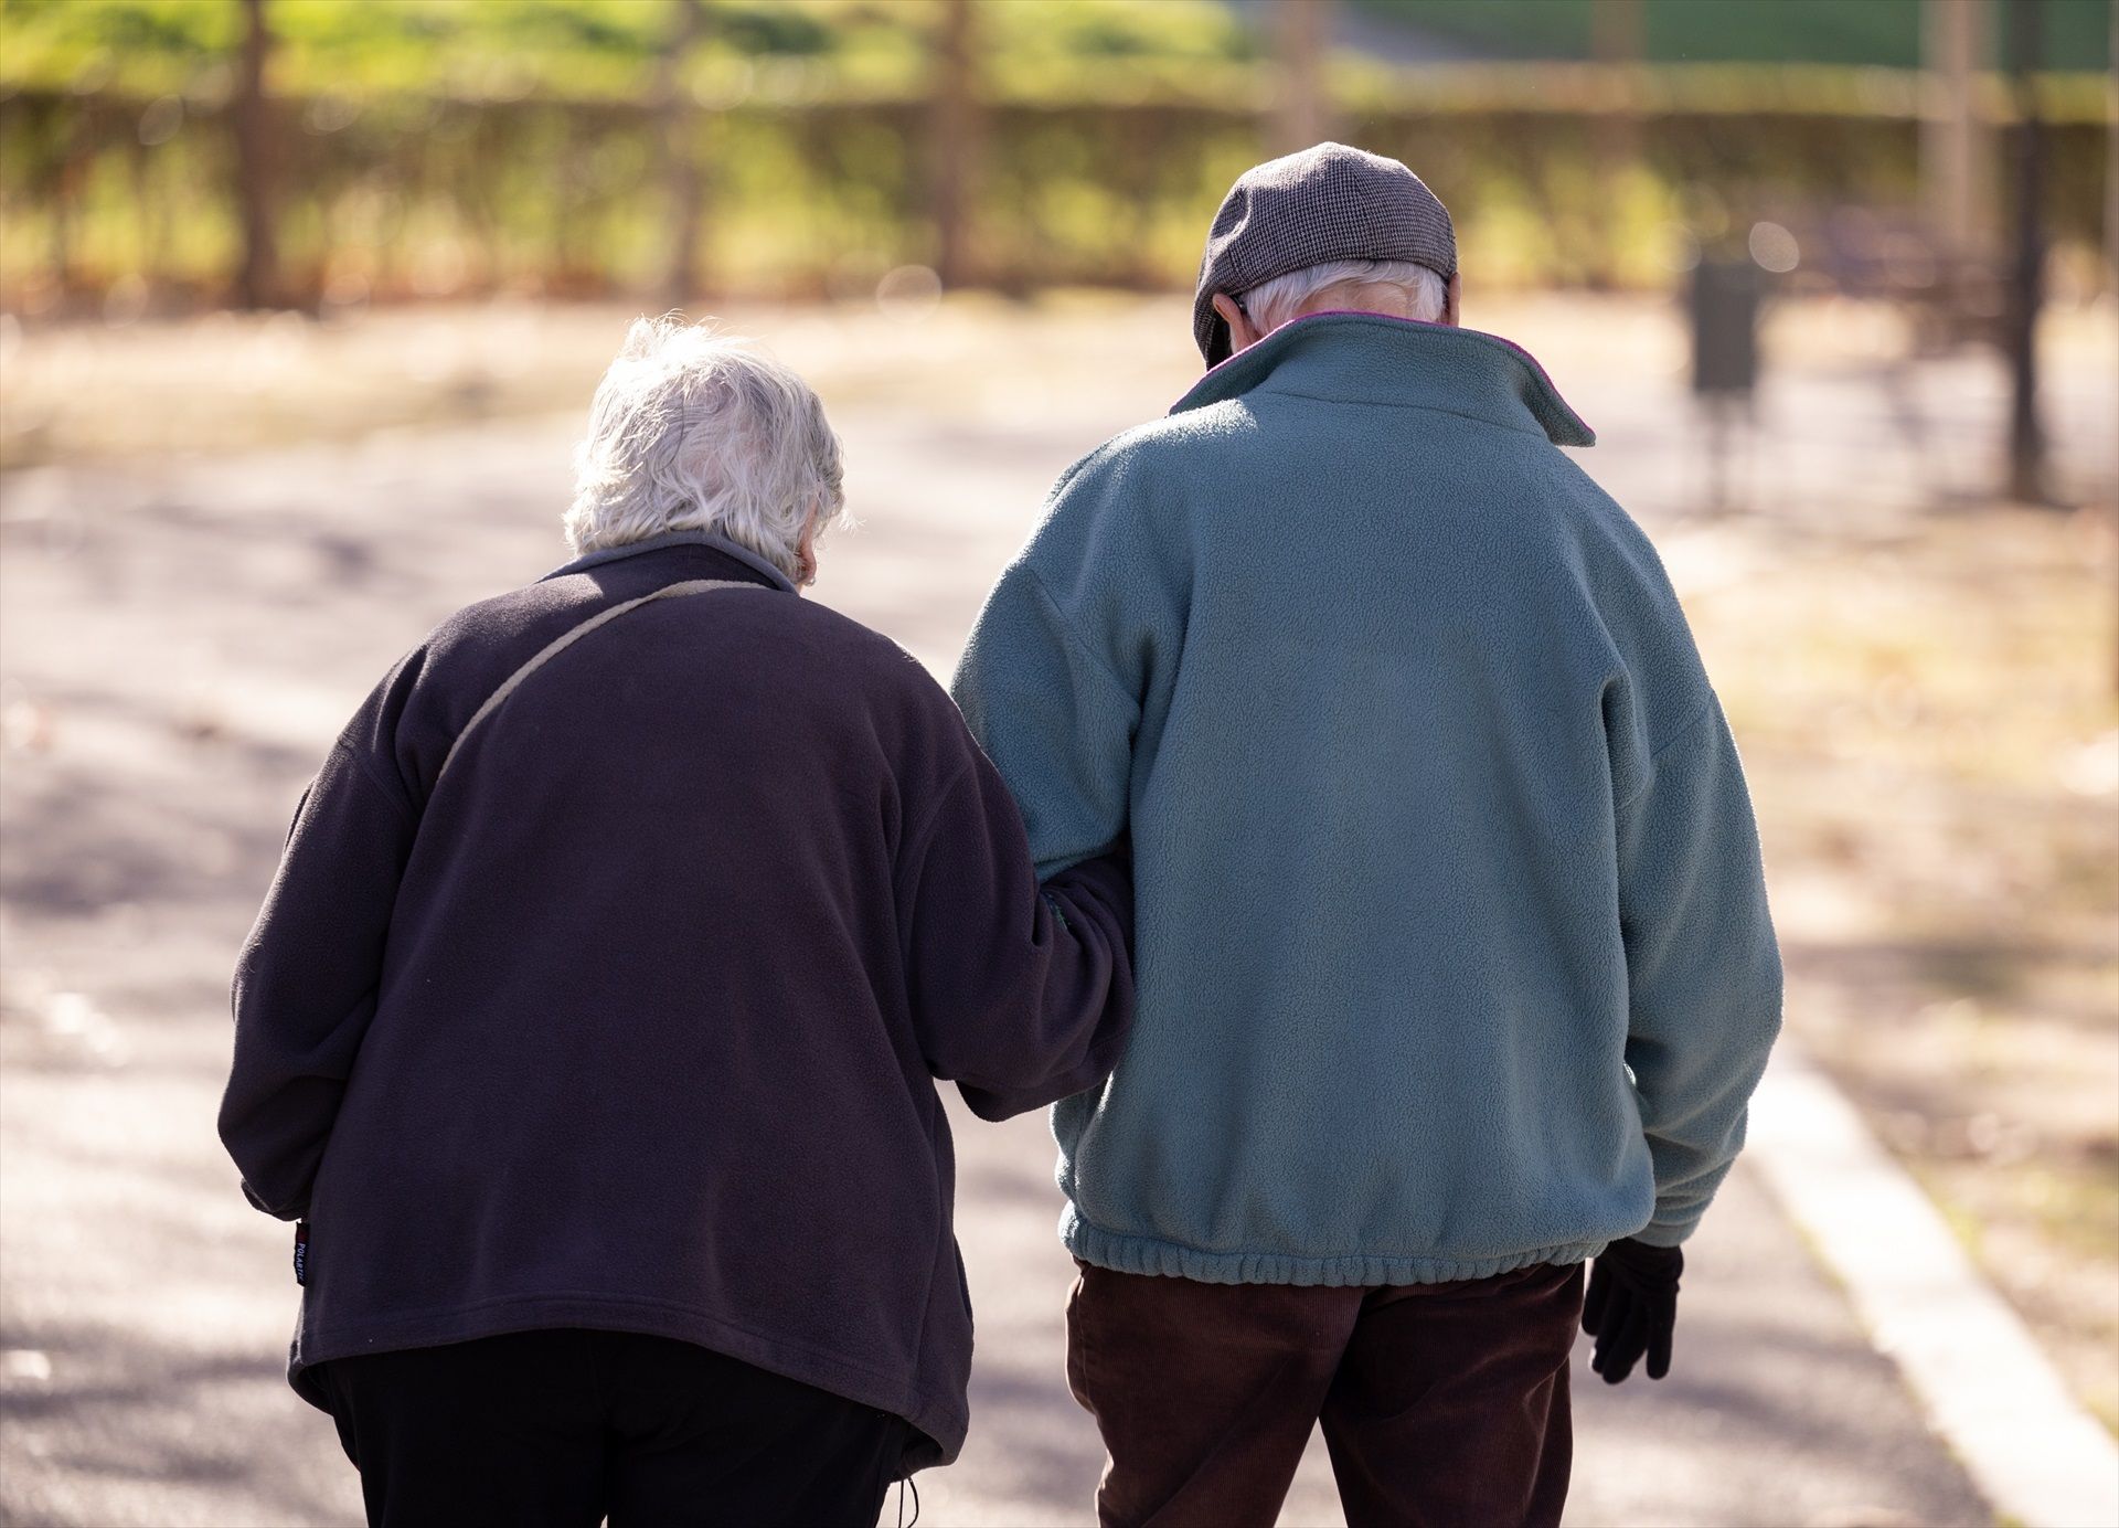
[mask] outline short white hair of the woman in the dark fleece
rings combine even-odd
[[[839,513],[839,437],[809,386],[748,341],[636,318],[574,447],[576,553],[714,530],[790,579],[803,526]]]

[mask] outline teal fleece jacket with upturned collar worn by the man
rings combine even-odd
[[[1528,354],[1297,320],[1074,464],[956,676],[1038,873],[1132,839],[1138,1011],[1062,1236],[1208,1282],[1672,1246],[1780,956],[1735,744]]]

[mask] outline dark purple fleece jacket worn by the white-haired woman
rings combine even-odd
[[[466,733],[562,634],[706,579],[744,587],[612,617]],[[1129,924],[1112,860],[1040,894],[909,655],[718,538],[470,606],[324,761],[235,977],[220,1136],[309,1223],[295,1388],[602,1327],[894,1411],[905,1471],[951,1460],[971,1301],[932,1079],[987,1119],[1100,1081]]]

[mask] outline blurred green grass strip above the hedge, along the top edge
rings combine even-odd
[[[1494,59],[1583,59],[1591,0],[1350,0]],[[1918,64],[1920,0],[1642,0],[1651,64]],[[638,100],[674,32],[674,0],[269,0],[275,89],[288,95],[422,93],[451,100]],[[684,59],[704,104],[913,97],[939,0],[704,0]],[[1996,8],[1998,13],[1998,8]],[[2083,78],[2053,108],[2102,119],[2106,0],[2045,0],[2047,64]],[[1254,19],[1254,17],[1252,17]],[[1214,0],[987,0],[985,93],[996,100],[1257,100],[1261,45]],[[0,91],[42,89],[212,104],[233,81],[237,0],[0,0]],[[1524,68],[1392,68],[1341,55],[1343,81],[1534,104],[1551,81]],[[1691,70],[1695,104],[1731,89],[1742,108],[1911,112],[1888,70]],[[1687,87],[1689,83],[1689,87]],[[1513,85],[1513,91],[1511,91]],[[1882,95],[1882,102],[1869,97]],[[1901,100],[1905,97],[1905,100]]]

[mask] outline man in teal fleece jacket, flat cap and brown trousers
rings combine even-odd
[[[1320,144],[1208,235],[1212,367],[1079,462],[958,704],[1043,873],[1132,841],[1140,1015],[1053,1113],[1106,1524],[1553,1524],[1577,1316],[1670,1361],[1780,1015],[1735,746],[1589,428]],[[1583,1263],[1596,1259],[1583,1310]]]

